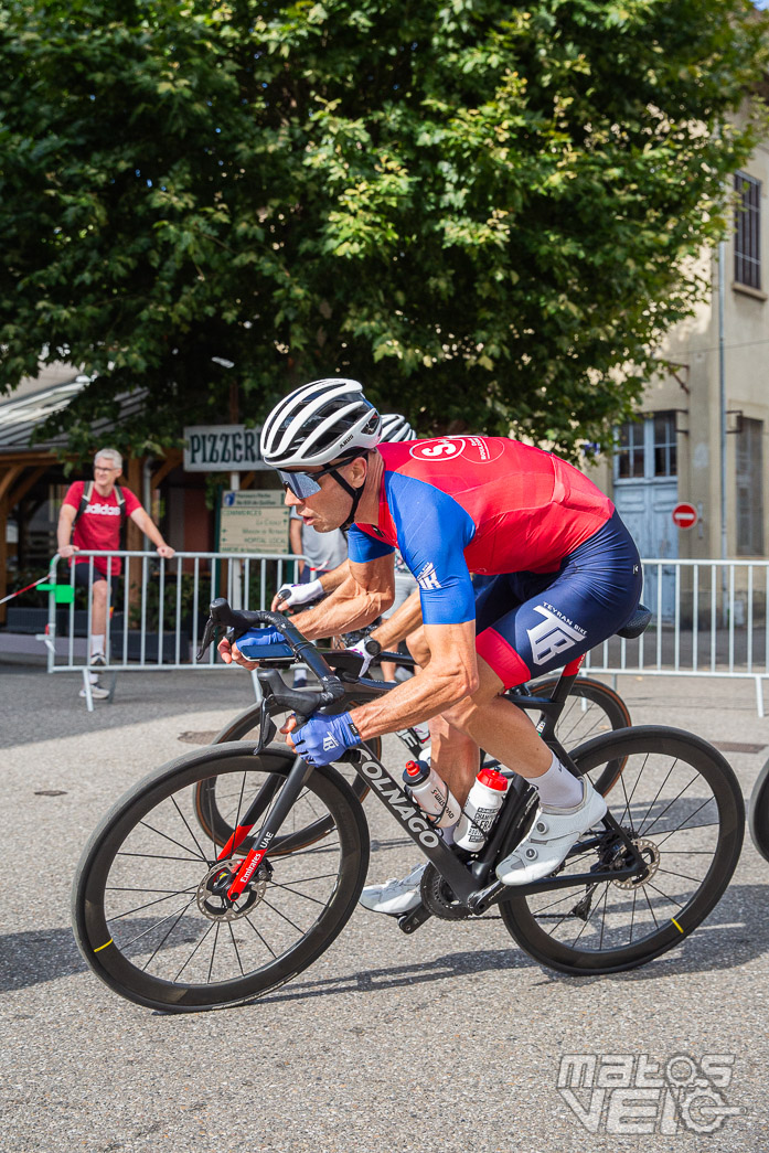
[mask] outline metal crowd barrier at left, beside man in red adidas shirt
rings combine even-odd
[[[51,562],[48,624],[42,639],[48,650],[48,672],[82,673],[89,709],[93,708],[89,654],[98,558],[106,558],[107,571],[116,559],[122,567],[114,591],[112,582],[106,582],[106,665],[98,670],[106,675],[228,668],[216,646],[203,661],[195,661],[211,601],[226,596],[233,608],[269,609],[284,581],[299,580],[297,562],[306,559],[276,552],[175,552],[166,560],[154,551],[125,550],[82,550],[77,557],[85,558],[78,567],[88,572],[82,590],[75,585],[75,565],[58,553]],[[258,699],[256,675],[252,683]]]

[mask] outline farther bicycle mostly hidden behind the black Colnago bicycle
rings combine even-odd
[[[642,615],[647,615],[649,610],[642,609],[641,612]],[[643,619],[646,620],[646,616],[643,616]],[[631,625],[629,627],[632,632],[633,626]],[[337,649],[327,651],[324,649],[323,654],[334,666],[339,665],[340,660],[345,660],[340,658],[339,650]],[[382,653],[377,658],[377,662],[379,661],[390,661],[393,664],[405,666],[414,665],[413,658],[404,656],[401,653]],[[293,657],[284,661],[276,660],[273,662],[276,666],[284,669],[292,668],[294,663]],[[348,666],[353,669],[360,668],[359,658],[354,657]],[[526,707],[530,709],[534,709],[536,703],[542,703],[546,707],[549,709],[548,715],[555,726],[555,736],[566,748],[575,748],[589,737],[595,737],[601,732],[629,729],[632,724],[627,706],[619,694],[613,688],[610,688],[609,685],[588,677],[570,677],[565,680],[552,678],[538,680],[531,685],[512,688],[506,695],[511,699],[521,695],[528,698]],[[363,703],[363,701],[349,701],[348,707],[352,708],[355,703]],[[544,723],[544,716],[545,714],[543,713],[538,722],[540,724]],[[224,745],[231,740],[248,740],[251,737],[257,737],[261,723],[262,704],[250,704],[217,733],[212,744]],[[425,752],[429,740],[427,725],[419,729],[400,729],[395,736],[400,738],[406,756],[416,759]],[[376,756],[382,756],[382,741],[378,737],[369,741],[369,747]],[[495,761],[483,758],[483,754],[482,760],[484,763],[496,764]],[[345,777],[357,799],[363,801],[370,792],[368,782],[350,764],[340,762],[336,767]],[[609,779],[608,776],[604,792],[609,792],[617,783],[623,767],[624,759],[618,758],[612,763],[611,775],[613,779]],[[232,785],[228,786],[225,777],[211,777],[206,781],[201,781],[196,786],[195,812],[198,823],[205,836],[211,837],[220,845],[226,844],[233,831],[226,817],[226,813],[232,811]],[[304,829],[302,844],[315,844],[318,839],[326,836],[330,830],[331,823],[327,819],[310,821]],[[292,831],[291,843],[294,849],[299,845],[300,836],[297,829]],[[272,856],[282,851],[281,845],[281,838],[277,837],[272,847]]]

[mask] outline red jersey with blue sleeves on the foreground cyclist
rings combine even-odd
[[[475,618],[473,573],[558,572],[615,506],[579,469],[506,437],[383,444],[379,523],[355,523],[349,558],[397,547],[427,624]]]

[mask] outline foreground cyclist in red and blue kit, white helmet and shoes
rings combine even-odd
[[[461,436],[378,446],[380,420],[362,386],[312,382],[267,416],[262,454],[286,503],[318,532],[349,528],[349,575],[295,617],[309,638],[361,628],[393,598],[398,548],[419,587],[427,650],[419,677],[340,716],[315,716],[291,737],[315,764],[344,748],[443,716],[535,785],[540,811],[497,869],[505,884],[546,876],[606,812],[586,778],[560,766],[528,717],[500,696],[587,653],[629,619],[641,593],[638,550],[611,500],[552,453],[504,437]],[[477,602],[470,572],[490,575]],[[252,630],[225,660],[258,663],[274,630]],[[435,767],[463,804],[472,741]],[[512,763],[511,763],[512,762]],[[445,832],[445,830],[444,830]],[[447,839],[451,839],[448,830]],[[423,867],[363,890],[376,912],[420,903]]]

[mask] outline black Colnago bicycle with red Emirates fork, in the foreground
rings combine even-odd
[[[233,627],[234,639],[273,625],[319,689],[300,694],[278,669],[262,670],[258,739],[196,749],[130,789],[91,836],[73,887],[75,935],[91,969],[121,996],[174,1012],[262,996],[311,965],[344,928],[369,862],[363,807],[332,766],[314,768],[270,747],[271,714],[294,709],[301,724],[310,713],[344,711],[389,689],[360,678],[350,654],[340,653],[333,670],[277,613],[234,613],[214,602],[209,640],[216,624]],[[549,702],[517,703],[545,706],[543,738],[600,790],[623,762],[612,809],[553,875],[508,888],[495,879],[496,865],[536,812],[536,791],[521,777],[512,775],[488,842],[468,856],[445,844],[370,746],[350,749],[356,773],[429,861],[422,902],[398,919],[400,928],[413,933],[430,917],[481,918],[498,906],[527,952],[572,974],[620,972],[673,948],[713,910],[739,859],[745,809],[727,762],[700,737],[656,725],[598,736],[570,755],[553,734]],[[232,786],[224,845],[203,835],[196,813],[198,785],[212,778]],[[216,796],[221,802],[224,791]],[[330,831],[307,846],[314,821]]]

